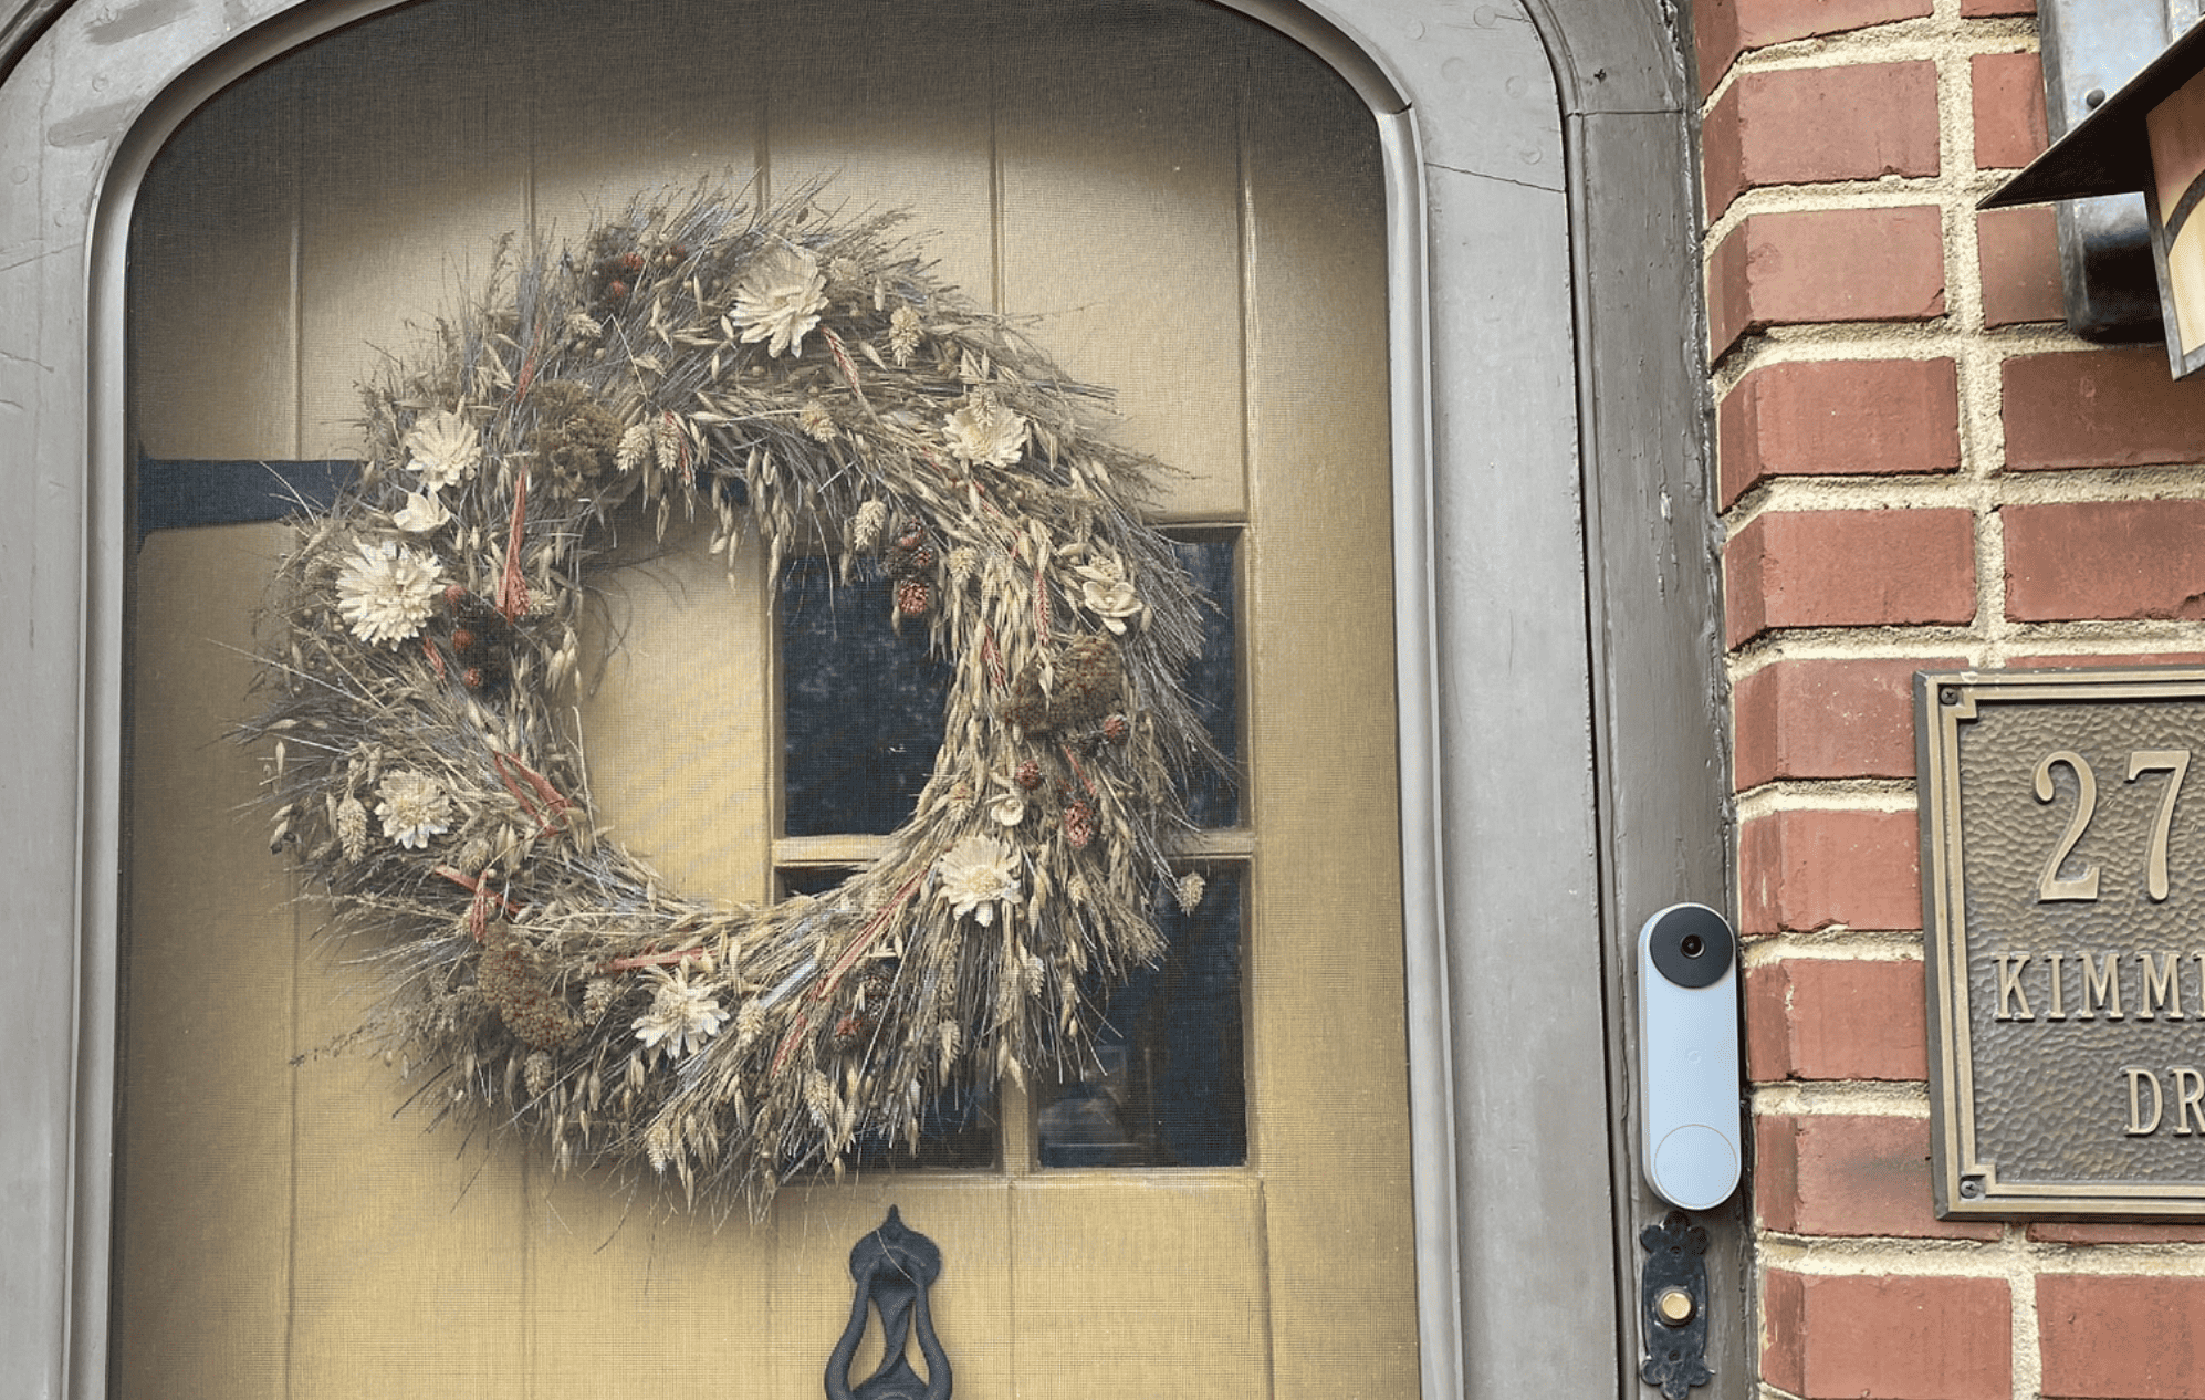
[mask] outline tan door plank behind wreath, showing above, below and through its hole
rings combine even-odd
[[[743,187],[761,159],[756,7],[681,0],[512,4],[534,53],[534,216],[580,256],[635,196]],[[633,514],[600,573],[580,706],[591,800],[609,836],[692,897],[772,893],[774,699],[765,560],[708,551],[710,514]],[[540,1153],[538,1153],[540,1157]],[[531,1202],[531,1393],[600,1396],[648,1376],[659,1396],[759,1393],[774,1349],[761,1239],[686,1213],[657,1180],[551,1180]]]

